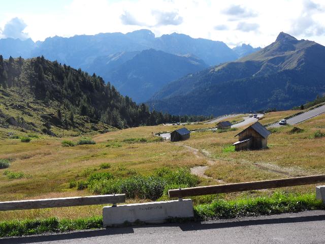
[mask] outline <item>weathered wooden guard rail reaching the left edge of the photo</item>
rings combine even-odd
[[[124,203],[125,194],[0,202],[0,211]]]

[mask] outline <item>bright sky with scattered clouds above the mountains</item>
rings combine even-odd
[[[127,33],[193,38],[265,47],[280,32],[325,45],[322,0],[0,0],[0,38]]]

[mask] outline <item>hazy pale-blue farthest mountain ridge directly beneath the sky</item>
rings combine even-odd
[[[203,59],[208,65],[217,65],[240,57],[221,41],[196,39],[177,33],[155,37],[148,29],[140,29],[126,34],[100,33],[70,38],[55,36],[36,43],[32,42],[31,39],[25,41],[14,40],[0,39],[0,53],[3,54],[4,58],[9,58],[9,55],[16,57],[16,55],[20,54],[19,51],[6,52],[5,47],[8,48],[8,46],[4,45],[4,43],[20,42],[25,45],[23,52],[21,52],[21,56],[24,58],[44,55],[50,60],[57,60],[59,63],[65,63],[77,69],[87,68],[99,56],[117,52],[142,51],[151,48],[172,54],[192,53]]]

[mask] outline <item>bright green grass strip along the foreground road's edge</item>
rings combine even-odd
[[[245,216],[283,214],[304,210],[325,209],[315,194],[285,194],[276,192],[269,197],[237,200],[215,200],[209,204],[194,206],[196,220],[239,218]],[[181,221],[181,220],[180,220]],[[42,220],[14,220],[0,222],[0,237],[23,236],[42,233],[58,233],[73,230],[102,228],[101,216],[67,220],[47,218]]]

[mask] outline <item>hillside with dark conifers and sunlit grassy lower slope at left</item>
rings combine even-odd
[[[2,127],[20,126],[54,135],[52,127],[105,132],[112,127],[156,125],[182,119],[150,113],[145,104],[137,105],[121,96],[101,77],[61,66],[43,56],[4,60],[0,55],[0,87]]]

